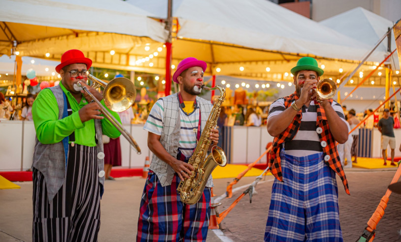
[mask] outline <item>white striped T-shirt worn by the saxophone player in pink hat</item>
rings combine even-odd
[[[197,134],[198,132],[194,132],[194,128],[198,130],[199,124],[199,112],[200,109],[197,108],[194,112],[187,115],[182,111],[180,108],[180,141],[179,141],[179,149],[181,150],[182,154],[186,157],[192,155],[196,145],[197,145]],[[152,109],[150,110],[149,117],[146,120],[143,129],[149,131],[151,133],[162,135],[163,131],[163,100],[159,99],[153,105]]]

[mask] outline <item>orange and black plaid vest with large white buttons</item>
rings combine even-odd
[[[294,92],[289,96],[284,97],[285,108],[287,109],[288,107],[290,107],[294,101],[298,100],[298,98],[299,97],[296,92]],[[333,99],[330,99],[329,101],[330,103],[333,103]],[[330,168],[332,168],[333,171],[337,173],[337,175],[341,178],[342,183],[344,184],[345,192],[348,195],[350,195],[348,189],[348,181],[347,178],[345,177],[344,170],[342,169],[340,157],[338,156],[337,147],[335,145],[335,140],[329,129],[329,123],[327,121],[325,110],[320,106],[320,104],[317,104],[316,112],[317,112],[316,127],[321,127],[323,129],[323,132],[318,134],[320,142],[322,141],[327,142],[327,146],[322,147],[324,153],[323,157],[326,155],[330,156],[330,159],[328,161],[325,160],[325,163]],[[270,150],[268,165],[270,167],[271,174],[273,174],[273,176],[277,178],[279,181],[283,181],[283,174],[281,171],[281,159],[280,159],[281,144],[283,142],[291,141],[294,138],[294,136],[298,132],[298,129],[300,128],[301,118],[302,118],[302,112],[300,111],[294,117],[293,122],[287,127],[287,129],[284,130],[281,134],[274,137],[272,149]]]

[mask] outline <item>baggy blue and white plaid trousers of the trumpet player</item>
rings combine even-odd
[[[323,152],[280,157],[283,182],[273,182],[265,241],[342,242],[337,182]]]

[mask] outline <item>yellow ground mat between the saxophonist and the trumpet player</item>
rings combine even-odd
[[[233,165],[233,164],[227,164],[225,167],[217,166],[213,172],[212,172],[212,177],[213,179],[218,179],[218,178],[235,178],[243,172],[248,166],[246,165]],[[263,170],[257,169],[257,168],[251,168],[244,177],[257,177],[262,174]],[[270,172],[267,173],[267,175],[271,175]]]

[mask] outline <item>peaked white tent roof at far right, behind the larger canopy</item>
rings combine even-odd
[[[362,7],[356,7],[319,23],[347,35],[348,37],[368,44],[371,49],[373,49],[379,39],[388,31],[388,28],[391,28],[394,25],[392,21]],[[393,51],[396,49],[396,41],[393,31],[391,34],[391,51]],[[384,39],[375,52],[386,53],[387,42],[387,38]],[[384,55],[382,59],[384,59]],[[395,64],[393,60],[395,61]],[[391,61],[393,68],[399,69],[400,65],[397,58],[397,51],[393,54],[393,60]]]

